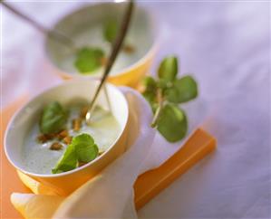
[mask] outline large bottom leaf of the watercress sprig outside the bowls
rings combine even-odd
[[[184,138],[188,131],[188,120],[185,112],[173,104],[166,104],[160,112],[157,129],[169,142]]]

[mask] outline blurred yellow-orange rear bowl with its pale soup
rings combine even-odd
[[[70,36],[76,43],[76,47],[100,47],[108,54],[111,44],[102,40],[102,24],[110,19],[120,20],[125,6],[125,2],[85,5],[72,14],[64,16],[53,29]],[[135,52],[119,54],[109,77],[111,83],[135,87],[149,71],[158,47],[159,34],[156,24],[153,14],[138,5],[135,7],[125,41],[135,47]],[[102,69],[85,75],[77,72],[73,66],[74,52],[50,36],[47,36],[45,40],[45,53],[48,61],[53,64],[53,69],[63,79],[101,77]]]

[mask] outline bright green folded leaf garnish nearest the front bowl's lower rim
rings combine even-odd
[[[99,149],[89,134],[81,134],[73,138],[63,156],[52,169],[53,174],[63,173],[78,167],[78,162],[90,162],[98,157]]]

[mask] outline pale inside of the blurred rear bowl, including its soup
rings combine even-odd
[[[102,48],[107,54],[111,50],[110,43],[106,43],[102,36],[102,25],[111,19],[121,22],[125,12],[126,3],[102,3],[85,5],[81,9],[68,14],[54,26],[54,29],[69,36],[78,47],[92,46]],[[111,75],[118,74],[127,67],[139,62],[152,48],[156,34],[154,22],[150,13],[145,9],[135,6],[131,27],[127,34],[126,43],[135,47],[135,52],[126,54],[121,52],[114,63]],[[53,65],[61,71],[78,74],[74,68],[74,52],[62,43],[47,37],[45,49]],[[87,76],[96,76],[102,73],[102,68]],[[84,76],[84,75],[82,75]]]

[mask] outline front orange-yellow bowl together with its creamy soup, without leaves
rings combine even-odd
[[[68,195],[119,157],[126,147],[129,109],[124,95],[115,86],[106,84],[111,110],[105,93],[101,91],[97,100],[99,107],[92,113],[91,126],[87,126],[82,120],[79,130],[73,127],[72,120],[78,118],[82,106],[92,100],[98,84],[99,81],[94,80],[66,81],[45,90],[25,104],[15,114],[5,133],[5,154],[11,164],[27,176],[53,187],[59,195]],[[82,133],[89,134],[99,149],[99,156],[82,167],[55,174],[51,170],[63,156],[69,143],[65,145],[61,142],[63,148],[54,150],[50,148],[58,138],[45,142],[37,140],[41,135],[38,123],[44,107],[54,101],[70,109],[67,120],[69,136],[74,138]]]

